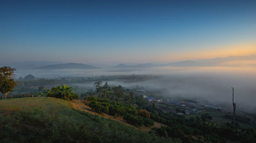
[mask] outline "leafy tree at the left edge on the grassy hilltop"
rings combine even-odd
[[[0,91],[5,93],[5,99],[9,92],[12,92],[17,82],[14,81],[15,68],[1,67],[0,68]]]

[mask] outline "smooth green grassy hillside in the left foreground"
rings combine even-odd
[[[51,97],[0,100],[0,142],[180,142],[72,109]]]

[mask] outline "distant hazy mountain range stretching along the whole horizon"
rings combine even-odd
[[[241,61],[244,61],[242,64]],[[240,64],[240,65],[239,65]],[[256,55],[248,56],[228,56],[226,58],[215,58],[215,59],[203,59],[194,61],[179,61],[170,62],[167,64],[136,64],[136,65],[124,65],[119,64],[117,66],[102,68],[106,70],[140,70],[151,67],[209,67],[209,66],[243,66],[243,65],[256,66]],[[1,64],[1,66],[11,66],[16,69],[99,69],[95,66],[78,63],[62,64],[61,62],[17,62]]]

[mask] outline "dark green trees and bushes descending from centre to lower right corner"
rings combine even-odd
[[[256,139],[255,129],[241,129],[229,123],[225,126],[218,126],[212,123],[212,117],[209,113],[203,113],[200,117],[192,116],[189,119],[185,119],[184,116],[176,115],[176,113],[163,112],[154,103],[149,104],[137,96],[130,96],[133,100],[130,99],[124,102],[123,98],[130,94],[123,92],[124,90],[120,85],[112,88],[114,93],[106,92],[111,88],[103,89],[100,84],[98,89],[95,96],[104,99],[93,96],[86,98],[92,109],[109,114],[113,110],[112,115],[118,113],[118,115],[123,116],[127,123],[134,126],[152,126],[153,120],[160,122],[166,126],[153,128],[151,132],[165,138],[179,138],[183,142],[225,142],[227,139],[253,142]],[[101,96],[102,93],[104,93],[104,96]],[[132,110],[130,108],[137,109],[137,112],[129,112],[129,110]]]

